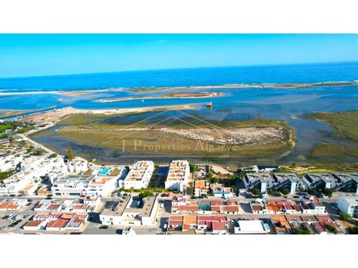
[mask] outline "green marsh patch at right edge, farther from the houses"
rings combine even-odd
[[[313,113],[312,116],[326,122],[339,137],[358,142],[358,111]]]

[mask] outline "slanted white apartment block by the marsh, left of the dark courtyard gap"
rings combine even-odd
[[[147,188],[151,175],[154,171],[153,161],[137,161],[129,170],[127,177],[125,177],[125,189],[141,189]]]

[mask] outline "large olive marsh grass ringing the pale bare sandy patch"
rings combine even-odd
[[[165,119],[165,115],[164,119]],[[288,122],[282,120],[248,120],[231,121],[222,120],[221,122],[202,122],[198,118],[190,116],[181,120],[163,120],[159,117],[158,122],[151,121],[151,124],[133,124],[131,121],[114,120],[112,124],[101,124],[103,120],[110,118],[111,115],[87,115],[75,114],[70,118],[62,120],[59,124],[68,124],[63,129],[46,135],[56,135],[62,139],[68,139],[79,145],[100,146],[105,148],[114,148],[127,154],[128,152],[143,155],[192,155],[200,157],[215,156],[245,156],[255,157],[257,155],[273,155],[288,150],[295,144],[295,135],[293,129],[288,126]],[[109,122],[111,120],[107,120]],[[118,124],[117,124],[118,122]],[[194,126],[193,126],[194,125]],[[209,144],[204,141],[190,139],[188,137],[174,133],[163,133],[161,131],[125,131],[124,129],[144,128],[150,126],[151,129],[161,127],[170,127],[173,129],[193,129],[198,128],[239,128],[239,127],[280,127],[285,130],[286,138],[279,142],[257,142],[255,144],[224,146],[218,144]],[[123,131],[122,131],[123,129]],[[38,133],[37,135],[42,135]]]

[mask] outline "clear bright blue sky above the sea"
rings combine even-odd
[[[358,60],[358,34],[0,34],[0,77]]]

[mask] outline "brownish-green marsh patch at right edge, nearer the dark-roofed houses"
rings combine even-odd
[[[357,158],[358,147],[338,144],[318,144],[311,152],[312,157],[346,157]]]

